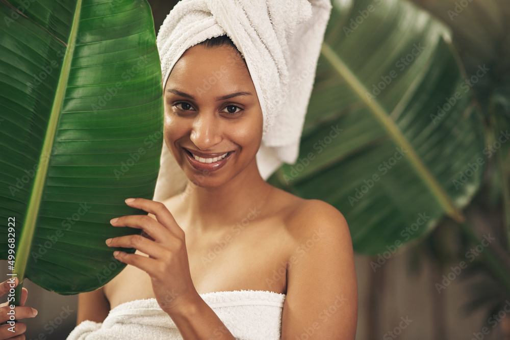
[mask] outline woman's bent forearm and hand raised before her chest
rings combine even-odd
[[[195,290],[188,263],[185,233],[163,203],[136,198],[126,204],[152,215],[112,219],[113,226],[140,228],[138,234],[107,240],[110,247],[136,248],[143,254],[114,252],[115,258],[147,272],[152,291],[184,339],[234,339],[216,313]]]

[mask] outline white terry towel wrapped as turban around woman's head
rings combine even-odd
[[[244,56],[262,108],[257,165],[267,179],[284,162],[297,160],[330,11],[329,0],[182,0],[157,37],[163,85],[186,49],[209,38],[230,37]],[[164,144],[154,199],[175,195],[186,182]]]

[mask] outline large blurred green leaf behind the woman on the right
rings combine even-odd
[[[442,23],[406,1],[333,3],[298,162],[269,182],[338,208],[380,266],[444,216],[464,220],[483,125]]]

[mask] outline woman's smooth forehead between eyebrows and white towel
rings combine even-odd
[[[248,68],[237,50],[227,45],[188,48],[170,72],[166,88],[170,85],[185,92],[255,91]]]

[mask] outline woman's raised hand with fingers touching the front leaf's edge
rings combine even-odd
[[[109,247],[135,248],[147,256],[114,252],[119,261],[135,266],[150,276],[152,290],[161,309],[170,316],[185,313],[199,298],[191,279],[184,231],[163,203],[144,198],[130,198],[126,204],[153,214],[114,218],[115,227],[142,229],[141,235],[106,240]]]

